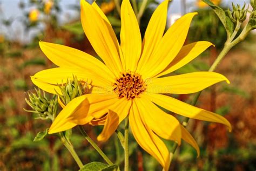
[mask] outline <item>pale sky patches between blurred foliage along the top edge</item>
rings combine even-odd
[[[24,26],[21,22],[19,22],[20,16],[22,16],[22,10],[18,8],[19,2],[28,2],[29,0],[22,1],[22,0],[0,0],[1,9],[0,9],[0,19],[8,19],[14,18],[15,21],[12,23],[11,30],[7,30],[2,25],[0,25],[0,33],[3,33],[9,38],[17,38],[22,40],[22,42],[28,42],[33,35],[38,33],[38,30],[34,29],[29,32],[29,35],[24,34]],[[163,0],[158,0],[163,1]],[[248,3],[250,0],[232,0],[234,3],[243,4],[244,2]],[[195,9],[195,2],[196,0],[186,0],[186,12],[190,12]],[[69,5],[78,4],[79,0],[60,0],[60,7],[62,9],[62,13],[60,17],[60,23],[68,22],[73,18],[79,17],[79,11],[71,10]],[[222,2],[224,5],[230,5],[230,0],[224,0]],[[31,6],[30,8],[33,8]],[[26,9],[29,11],[29,9]],[[173,0],[172,4],[169,7],[169,17],[172,14],[180,14],[181,13],[181,0]]]

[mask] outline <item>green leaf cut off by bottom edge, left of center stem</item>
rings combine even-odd
[[[79,171],[116,171],[117,169],[117,165],[110,166],[102,162],[93,161],[84,165]]]

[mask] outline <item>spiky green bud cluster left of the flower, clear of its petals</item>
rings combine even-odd
[[[38,89],[35,89],[36,93],[28,93],[29,98],[25,99],[26,103],[32,108],[32,110],[25,110],[27,112],[37,113],[40,119],[51,119],[55,117],[57,113],[57,98],[48,99],[45,93]]]

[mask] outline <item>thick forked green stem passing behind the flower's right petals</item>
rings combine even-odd
[[[220,63],[220,61],[226,56],[227,52],[230,51],[232,49],[232,47],[234,47],[235,45],[237,45],[238,43],[240,43],[242,40],[245,39],[245,37],[250,33],[250,31],[252,30],[251,26],[246,24],[245,28],[242,30],[242,32],[240,33],[240,35],[234,39],[234,37],[237,35],[238,30],[240,29],[241,24],[237,23],[237,26],[235,27],[234,32],[232,33],[232,35],[227,38],[227,41],[223,47],[223,50],[221,50],[221,52],[219,53],[219,56],[215,59],[214,63],[211,65],[210,69],[208,70],[209,72],[212,72],[216,69],[216,67],[218,66],[218,64]],[[233,40],[234,39],[234,40]],[[191,102],[191,105],[195,106],[197,104],[197,101],[200,97],[202,91],[198,92],[196,95],[194,95],[194,98]],[[183,121],[183,126],[186,127],[187,126],[187,122],[190,120],[190,118],[185,118]],[[178,143],[174,142],[172,151],[171,151],[171,161],[173,159],[173,155],[176,151],[178,147]]]

